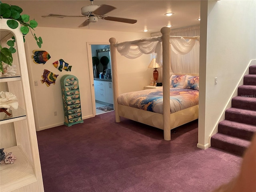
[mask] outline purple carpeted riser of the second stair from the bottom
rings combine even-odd
[[[245,139],[245,140],[251,140],[252,136],[256,132],[256,130],[255,130],[255,132],[254,132],[254,130],[241,130],[241,129],[236,128],[236,127],[219,124],[218,125],[218,132],[226,134],[226,135],[230,135],[230,136],[233,136],[233,137],[238,137],[238,138],[241,138],[241,139]]]

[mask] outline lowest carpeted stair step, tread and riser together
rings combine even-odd
[[[243,156],[245,150],[250,145],[250,141],[229,136],[222,133],[216,133],[211,138],[211,146],[232,154]]]

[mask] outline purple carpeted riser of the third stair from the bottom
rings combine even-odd
[[[239,114],[226,111],[225,119],[250,125],[256,125],[256,116],[249,116],[247,114]]]

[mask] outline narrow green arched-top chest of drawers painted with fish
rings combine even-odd
[[[78,79],[73,75],[64,75],[60,79],[66,126],[83,123],[80,104]]]

